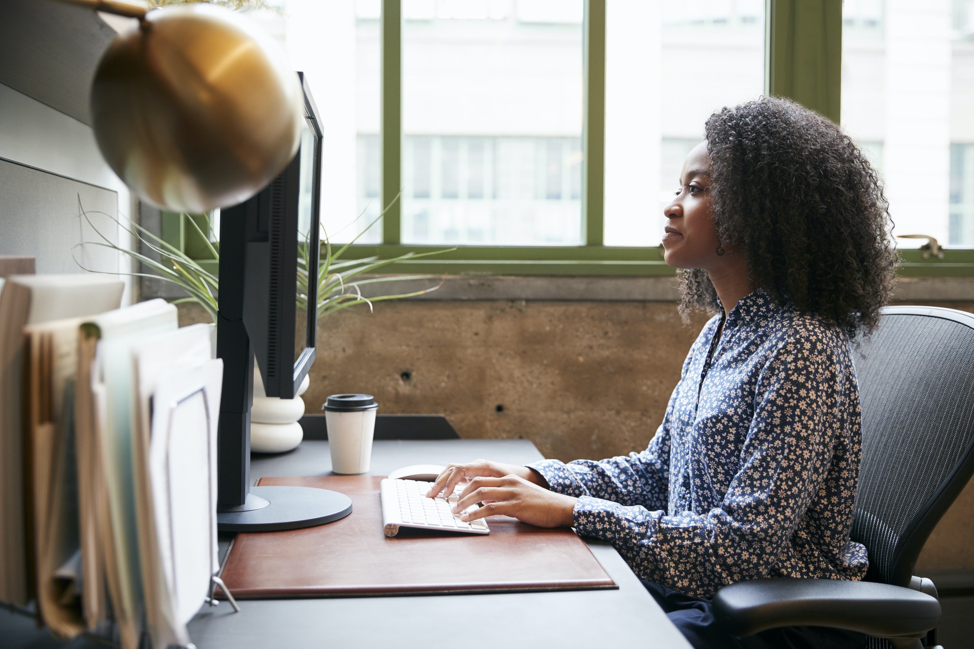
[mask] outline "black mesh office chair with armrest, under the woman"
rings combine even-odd
[[[872,338],[853,350],[853,363],[863,446],[850,536],[869,551],[866,581],[727,586],[714,597],[714,614],[736,635],[814,626],[866,633],[870,649],[936,644],[937,590],[913,570],[974,473],[974,316],[886,307]]]

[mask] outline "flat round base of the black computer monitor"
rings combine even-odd
[[[277,532],[321,525],[352,514],[352,499],[328,489],[255,486],[250,487],[250,493],[269,501],[269,504],[246,511],[217,510],[216,528],[219,531]]]

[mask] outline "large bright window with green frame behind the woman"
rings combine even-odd
[[[827,0],[842,24],[831,14],[787,54],[766,38],[786,42],[780,17],[801,0],[771,0],[772,15],[766,0],[272,3],[280,14],[251,16],[326,122],[330,240],[393,205],[348,256],[458,245],[389,269],[669,275],[661,210],[706,117],[766,87],[836,113],[838,65],[816,83],[791,70],[840,42],[843,130],[884,178],[896,232],[974,248],[974,0]],[[401,93],[385,109],[384,83]],[[974,250],[920,252],[903,251],[904,274],[974,274]]]

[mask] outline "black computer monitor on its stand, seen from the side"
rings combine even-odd
[[[259,194],[220,214],[217,525],[226,531],[294,529],[352,512],[352,501],[333,491],[250,486],[254,360],[265,394],[291,399],[316,356],[321,129],[308,81],[298,74],[305,106],[298,153]],[[305,286],[299,284],[302,253]],[[301,287],[306,309],[297,297]]]

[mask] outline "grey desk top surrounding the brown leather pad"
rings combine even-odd
[[[467,462],[479,457],[512,464],[542,459],[527,439],[390,439],[375,442],[371,473],[385,476],[409,464]],[[328,442],[306,440],[284,455],[254,456],[250,477],[320,476],[330,470]],[[690,644],[616,550],[599,541],[589,541],[588,546],[618,584],[618,591],[243,600],[241,612],[236,614],[228,603],[221,602],[200,611],[190,623],[190,636],[199,649],[427,649],[453,644],[465,649],[689,649]],[[221,544],[221,551],[225,549],[226,544]],[[424,620],[431,620],[429,626]],[[43,642],[42,637],[50,638],[46,631],[33,630],[29,620],[0,610],[0,645],[4,647],[104,646],[83,640],[70,645]]]

